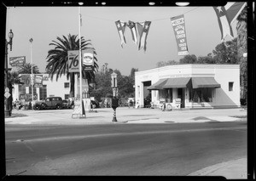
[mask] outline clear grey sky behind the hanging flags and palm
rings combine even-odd
[[[157,62],[182,59],[177,55],[177,42],[171,17],[184,14],[189,54],[207,56],[221,42],[218,19],[212,7],[81,7],[81,37],[96,49],[97,64],[130,75],[131,68],[144,71]],[[126,44],[120,46],[115,21],[151,21],[147,50],[138,50],[131,31],[125,31]],[[236,25],[233,25],[236,27]],[[14,32],[9,57],[26,56],[26,63],[38,65],[45,72],[49,43],[56,37],[79,35],[79,7],[8,7],[6,38]],[[233,28],[235,31],[236,28]],[[236,34],[236,31],[235,31]],[[31,43],[32,38],[32,58]],[[227,37],[227,40],[230,37]],[[15,69],[14,69],[15,70]]]

